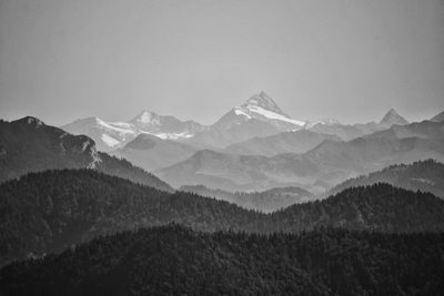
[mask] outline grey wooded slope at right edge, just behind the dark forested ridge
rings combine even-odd
[[[349,187],[389,183],[411,191],[431,192],[444,198],[444,164],[434,160],[418,161],[412,164],[394,164],[384,170],[350,178],[325,194],[336,194]]]

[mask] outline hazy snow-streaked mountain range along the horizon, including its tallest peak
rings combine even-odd
[[[97,143],[98,149],[102,151],[121,149],[139,134],[151,134],[162,140],[180,141],[196,149],[218,150],[253,137],[264,137],[302,129],[332,134],[349,141],[391,127],[393,124],[407,123],[393,109],[379,123],[344,125],[333,119],[314,122],[294,120],[282,111],[270,95],[260,92],[243,104],[234,106],[215,123],[208,126],[194,121],[180,121],[173,116],[162,116],[151,111],[143,111],[128,122],[104,122],[98,118],[88,118],[61,127],[72,134],[90,136]]]

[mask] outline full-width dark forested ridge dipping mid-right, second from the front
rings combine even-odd
[[[104,233],[164,225],[198,231],[301,232],[320,226],[444,231],[444,201],[387,184],[346,190],[273,214],[186,192],[168,193],[94,170],[31,173],[0,184],[0,265]]]

